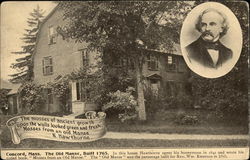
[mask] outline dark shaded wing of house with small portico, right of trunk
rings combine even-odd
[[[141,51],[145,55],[142,71],[146,78],[145,89],[150,89],[156,95],[176,96],[179,92],[185,92],[184,86],[188,79],[188,67],[178,44],[174,44],[174,49],[170,51],[149,49],[142,49]],[[115,62],[115,67],[128,66],[134,72],[131,63],[128,58],[122,57],[118,59],[118,62]]]

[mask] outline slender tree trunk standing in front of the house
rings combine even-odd
[[[139,63],[139,58],[135,63],[136,70],[136,83],[137,83],[137,96],[138,96],[138,118],[139,120],[146,120],[145,99],[144,99],[144,86],[142,79],[142,66]]]

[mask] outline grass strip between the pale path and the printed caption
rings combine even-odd
[[[132,140],[100,139],[86,143],[67,143],[41,139],[24,139],[20,144],[13,144],[10,139],[2,138],[3,148],[142,148],[142,147],[246,147],[247,140]]]

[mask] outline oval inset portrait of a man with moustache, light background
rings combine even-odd
[[[187,15],[180,42],[185,62],[193,72],[218,78],[230,72],[240,57],[241,27],[229,8],[207,2]]]

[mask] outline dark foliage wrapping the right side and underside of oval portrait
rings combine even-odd
[[[244,2],[223,2],[238,18],[243,32],[240,59],[225,76],[206,79],[192,74],[192,91],[197,105],[212,109],[218,117],[247,118],[248,8]]]

